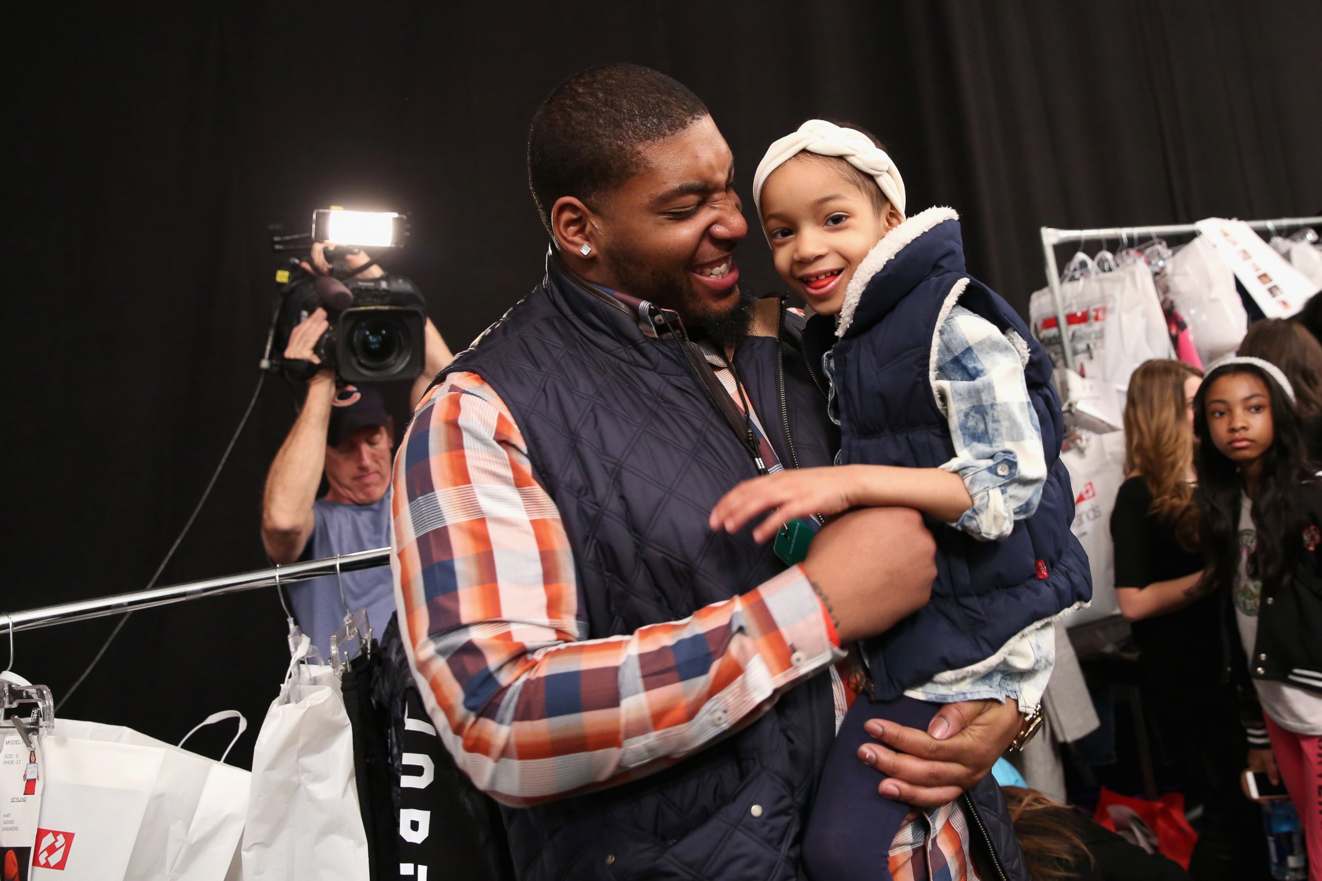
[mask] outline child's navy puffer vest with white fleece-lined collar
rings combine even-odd
[[[1025,375],[1042,425],[1047,481],[1036,512],[1002,540],[982,542],[928,518],[937,543],[932,600],[867,645],[880,699],[986,662],[1035,621],[1092,597],[1088,557],[1069,531],[1073,494],[1060,461],[1063,425],[1051,362],[1010,304],[965,272],[957,217],[935,207],[910,218],[873,248],[850,281],[833,355],[837,462],[937,468],[953,458],[932,388],[932,353],[941,320],[957,300],[1029,346]],[[824,321],[813,320],[814,335]],[[1011,458],[997,468],[1015,465]]]

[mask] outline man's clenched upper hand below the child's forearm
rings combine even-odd
[[[846,645],[884,633],[925,606],[935,557],[936,542],[917,511],[867,507],[824,526],[802,567],[830,601]]]

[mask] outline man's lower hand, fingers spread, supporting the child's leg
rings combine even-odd
[[[863,729],[880,744],[861,746],[858,757],[887,774],[878,787],[882,795],[931,808],[953,802],[986,777],[1022,725],[1013,700],[966,700],[943,707],[927,733],[874,719]]]

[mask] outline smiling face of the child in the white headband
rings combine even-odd
[[[900,223],[890,202],[878,214],[870,194],[836,162],[800,153],[767,178],[761,222],[780,277],[820,314],[839,314],[854,269]]]

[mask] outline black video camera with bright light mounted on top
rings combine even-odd
[[[272,235],[275,251],[307,250],[312,242],[333,242],[327,248],[330,275],[303,268],[299,259],[276,272],[280,285],[275,302],[272,350],[283,353],[293,329],[316,309],[327,312],[330,328],[316,343],[320,365],[311,361],[271,359],[275,370],[307,378],[330,369],[345,382],[391,382],[414,379],[426,361],[427,304],[412,281],[398,275],[356,277],[373,265],[356,269],[344,252],[364,247],[402,247],[408,235],[402,214],[317,210],[312,232]]]

